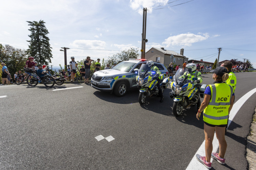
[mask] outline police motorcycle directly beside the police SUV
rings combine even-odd
[[[139,103],[143,104],[146,97],[157,96],[159,89],[157,88],[158,77],[155,76],[156,72],[151,71],[151,68],[147,64],[142,64],[138,70],[138,75],[136,77],[137,87],[140,90]],[[164,74],[160,74],[160,87],[163,92],[164,89],[168,87],[169,77],[164,78]]]

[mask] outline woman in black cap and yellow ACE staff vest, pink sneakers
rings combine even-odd
[[[228,116],[234,102],[234,89],[225,83],[228,79],[228,71],[225,67],[217,67],[213,72],[213,84],[205,89],[204,100],[198,109],[197,119],[199,120],[203,112],[204,135],[205,135],[205,156],[196,155],[197,160],[208,169],[211,168],[211,157],[220,164],[225,164],[224,155],[227,149],[225,140],[225,127]],[[212,153],[212,141],[216,132],[219,141],[219,153]]]

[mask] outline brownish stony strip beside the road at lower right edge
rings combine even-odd
[[[250,133],[247,136],[246,159],[248,162],[247,169],[256,169],[256,107],[254,109],[253,120],[250,127]]]

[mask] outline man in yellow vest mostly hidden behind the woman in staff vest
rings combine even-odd
[[[236,90],[236,85],[237,85],[237,77],[236,75],[232,72],[232,63],[230,61],[223,62],[221,67],[226,67],[228,70],[228,80],[226,80],[226,83],[230,86],[233,87],[234,92]],[[226,130],[227,132],[228,124],[226,125]]]

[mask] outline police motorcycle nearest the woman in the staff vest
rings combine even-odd
[[[199,84],[200,81],[197,80],[197,78],[189,80],[191,75],[191,68],[179,68],[173,76],[172,82],[170,82],[172,89],[170,97],[174,98],[172,110],[176,117],[181,115],[183,108],[188,108],[189,106],[194,105],[197,105],[197,108],[199,108],[201,105],[200,97],[204,98],[204,90],[207,85],[203,84],[201,86]]]

